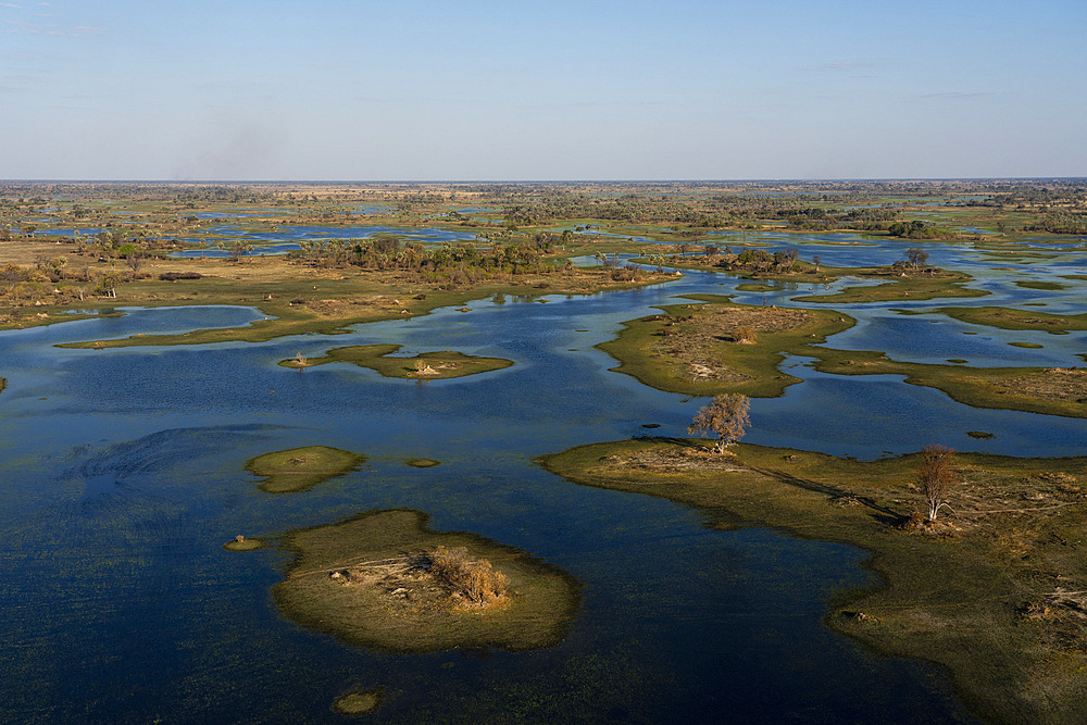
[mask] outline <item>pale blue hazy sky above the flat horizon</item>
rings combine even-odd
[[[1087,176],[1087,0],[0,0],[0,178]]]

